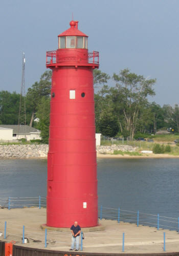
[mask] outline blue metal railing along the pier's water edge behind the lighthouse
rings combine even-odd
[[[24,207],[32,207],[36,206],[39,209],[41,207],[46,207],[46,198],[45,197],[9,197],[9,198],[0,198],[0,206],[6,207],[9,210],[11,208],[24,208]],[[0,208],[1,208],[0,207]],[[118,223],[129,222],[136,223],[137,226],[151,226],[156,227],[158,230],[160,228],[163,229],[171,229],[177,230],[179,232],[179,217],[171,218],[166,216],[161,216],[159,214],[146,214],[144,212],[125,210],[119,208],[109,208],[100,205],[98,215],[100,220],[108,219],[108,220],[116,220]]]

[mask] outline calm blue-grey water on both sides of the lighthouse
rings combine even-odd
[[[0,197],[46,196],[47,160],[0,160]],[[99,159],[99,205],[179,216],[179,159]]]

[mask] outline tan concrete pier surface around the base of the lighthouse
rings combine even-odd
[[[4,225],[7,221],[7,239],[4,240]],[[166,232],[166,252],[179,251],[179,234],[176,231],[157,230],[154,227],[140,226],[111,220],[99,221],[106,226],[105,230],[85,232],[84,252],[122,252],[122,237],[125,233],[124,253],[151,253],[163,251],[163,233]],[[2,241],[15,240],[17,245],[44,249],[44,230],[40,225],[46,223],[46,209],[0,209],[0,231]],[[27,244],[22,244],[23,225]],[[80,223],[79,223],[80,225]],[[33,240],[42,242],[33,242]],[[68,251],[71,246],[71,232],[48,231],[47,249]]]

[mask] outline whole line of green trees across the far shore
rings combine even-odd
[[[44,72],[40,80],[28,88],[26,94],[26,123],[41,130],[44,142],[49,138],[51,71]],[[112,79],[115,86],[108,86]],[[109,137],[123,136],[129,140],[139,134],[151,134],[165,127],[179,133],[179,106],[160,106],[149,102],[155,95],[156,79],[124,69],[112,77],[94,70],[96,132]],[[18,124],[20,95],[0,91],[0,124]],[[35,118],[39,122],[34,122]]]

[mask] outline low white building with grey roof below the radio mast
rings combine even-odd
[[[0,124],[0,140],[15,141],[26,138],[26,140],[41,139],[40,131],[29,125]]]

